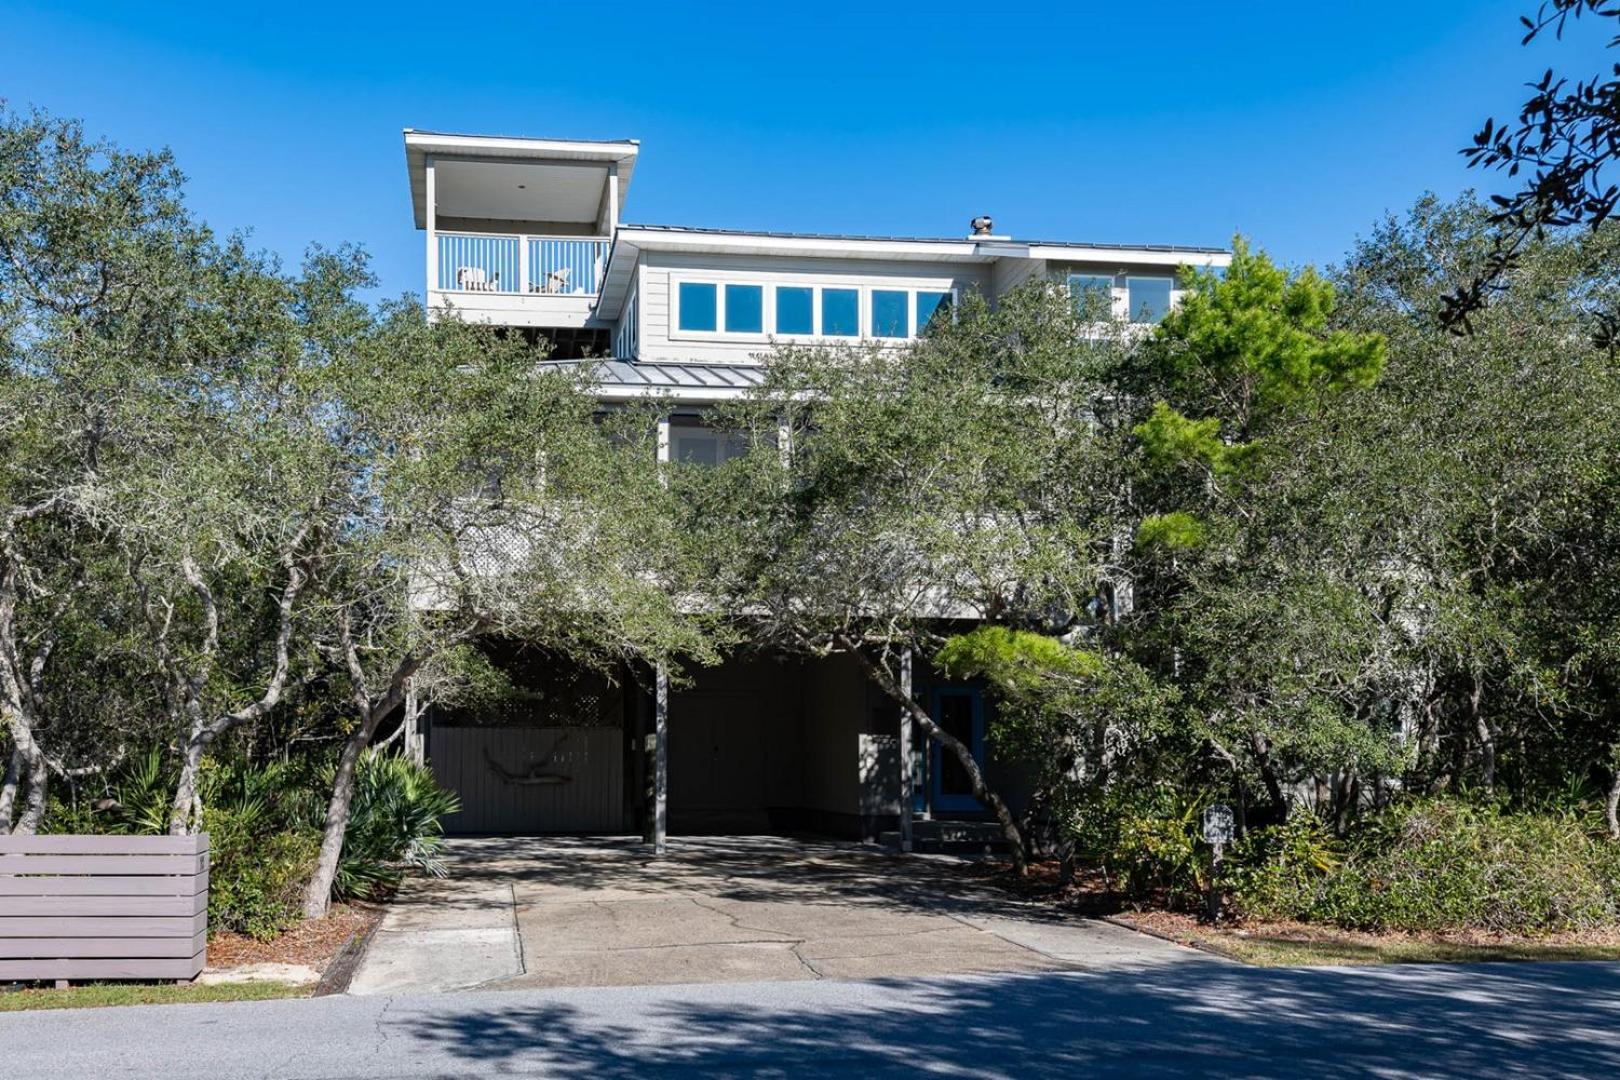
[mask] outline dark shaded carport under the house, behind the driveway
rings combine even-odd
[[[452,834],[656,840],[663,824],[667,836],[876,840],[901,827],[901,711],[847,656],[735,656],[671,687],[654,672],[604,677],[492,649],[517,693],[496,709],[437,712],[426,730],[426,759],[462,800]],[[977,690],[923,677],[919,693],[982,748]],[[915,753],[914,810],[974,818],[972,797],[949,789],[957,772]]]

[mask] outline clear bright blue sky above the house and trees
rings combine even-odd
[[[6,0],[0,97],[168,146],[196,210],[420,290],[400,130],[638,138],[625,220],[1220,244],[1332,262],[1604,28],[1533,0],[131,5]]]

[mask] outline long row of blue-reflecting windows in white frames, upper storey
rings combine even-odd
[[[685,334],[907,338],[949,306],[949,291],[925,288],[714,282],[676,287],[676,325]]]

